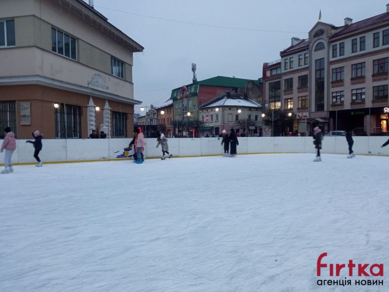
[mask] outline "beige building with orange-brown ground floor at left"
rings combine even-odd
[[[133,53],[143,47],[82,0],[3,0],[0,127],[18,138],[132,135]]]

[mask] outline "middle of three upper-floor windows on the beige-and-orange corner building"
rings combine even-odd
[[[73,60],[77,59],[75,39],[53,27],[51,28],[51,50]]]

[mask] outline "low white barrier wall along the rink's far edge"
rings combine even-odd
[[[355,136],[353,150],[356,155],[389,155],[389,145],[381,148],[387,136]],[[43,162],[65,162],[99,159],[115,159],[128,147],[131,138],[122,139],[43,139],[39,154]],[[147,138],[145,157],[161,157],[161,146],[157,139]],[[239,137],[239,154],[248,153],[315,153],[312,137]],[[3,140],[0,140],[2,143]],[[169,138],[169,152],[178,156],[206,156],[224,153],[221,138]],[[32,163],[34,149],[26,140],[17,140],[17,149],[12,156],[13,163]],[[132,152],[133,153],[133,150]],[[344,136],[325,136],[321,153],[348,154]],[[4,163],[4,152],[0,154]]]

